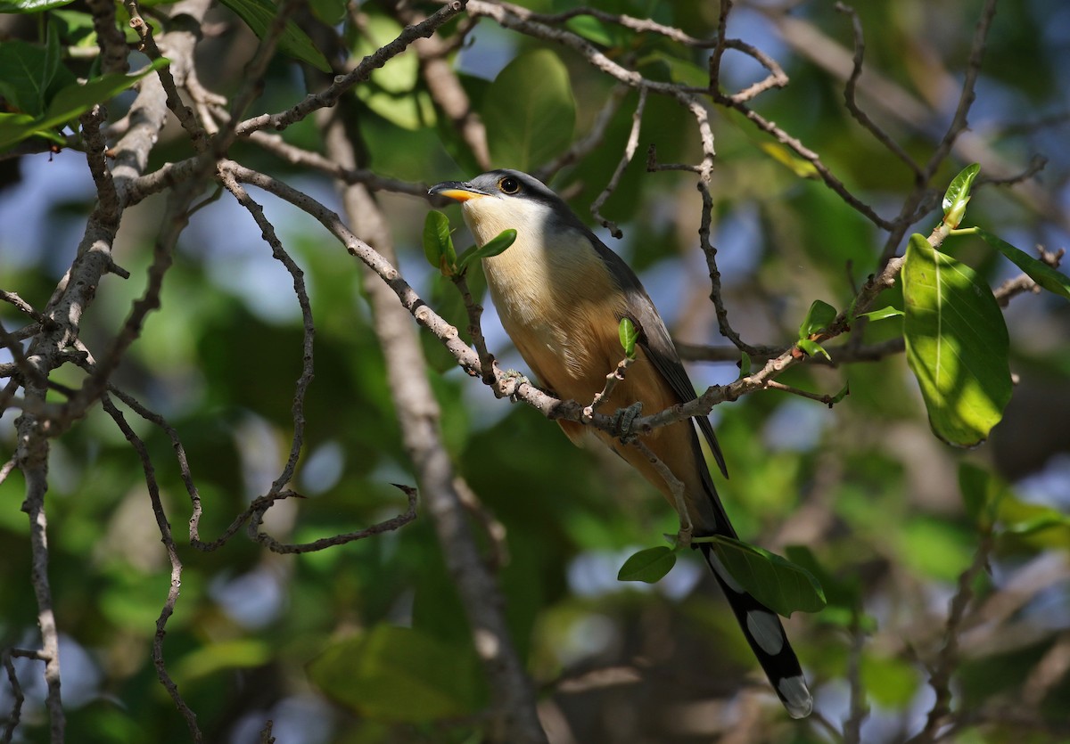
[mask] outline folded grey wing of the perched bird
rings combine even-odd
[[[676,353],[676,347],[669,336],[669,329],[666,328],[664,321],[661,320],[661,315],[655,309],[654,303],[640,283],[639,277],[636,276],[636,273],[631,270],[631,267],[620,255],[606,247],[594,233],[588,232],[588,237],[594,244],[595,250],[598,251],[598,255],[606,262],[610,273],[628,298],[628,316],[640,331],[639,343],[646,353],[647,358],[654,363],[655,369],[661,373],[661,376],[669,382],[673,392],[679,397],[681,402],[687,403],[693,401],[698,398],[694,392],[694,386],[687,376],[684,365],[681,363],[679,355]],[[709,423],[709,419],[705,416],[697,416],[694,420],[699,423],[699,429],[702,431],[703,436],[705,436],[706,441],[709,443],[709,450],[714,454],[714,460],[717,461],[717,466],[721,469],[724,477],[728,478],[729,471],[724,464],[724,455],[721,453],[720,445],[717,444],[717,436],[714,434],[713,424]],[[710,483],[712,485],[713,483]]]

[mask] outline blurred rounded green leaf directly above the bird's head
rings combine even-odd
[[[520,55],[487,89],[480,113],[495,162],[524,171],[548,162],[568,148],[576,125],[565,64],[549,49]]]

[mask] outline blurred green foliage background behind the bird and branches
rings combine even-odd
[[[303,22],[323,27],[345,17],[340,37],[357,59],[402,28],[389,3],[354,3],[348,14],[322,4],[314,3]],[[575,5],[521,4],[544,13]],[[694,37],[716,34],[717,3],[597,4]],[[729,35],[774,57],[791,79],[753,106],[820,153],[853,192],[882,214],[895,214],[912,175],[847,114],[843,81],[826,64],[837,55],[850,59],[850,21],[831,2],[791,5],[785,14],[755,0],[732,12]],[[883,0],[856,7],[867,74],[907,94],[918,110],[896,109],[882,97],[885,89],[865,77],[862,105],[918,158],[929,156],[958,103],[981,7],[979,0]],[[54,11],[49,22],[67,13],[74,24],[81,11],[78,3]],[[37,40],[39,18],[5,16],[0,29]],[[256,38],[224,7],[210,22],[197,64],[202,80],[229,96],[243,81]],[[697,76],[703,84],[708,49],[590,17],[562,25],[649,78]],[[76,44],[73,36],[64,42]],[[487,124],[495,166],[546,165],[588,133],[615,95],[613,81],[576,52],[487,18],[450,59]],[[1012,175],[1034,155],[1045,157],[1046,167],[1024,182],[1029,188],[981,184],[969,204],[973,223],[1024,250],[1067,243],[1068,64],[1070,6],[999,2],[967,133],[968,146],[982,157],[957,152],[934,179],[936,187],[946,185],[970,159],[1007,164],[1004,172],[982,170],[983,179]],[[739,89],[760,77],[749,58],[725,56],[727,84]],[[250,112],[293,105],[308,79],[278,56]],[[537,104],[529,110],[533,97]],[[590,205],[621,158],[636,103],[635,92],[624,94],[601,144],[550,183],[592,224]],[[380,176],[433,184],[478,171],[428,97],[411,49],[345,105],[363,138],[367,167]],[[123,99],[112,104],[113,118],[122,106]],[[549,121],[529,126],[524,117],[533,111]],[[750,343],[790,344],[812,300],[841,309],[850,303],[876,268],[885,235],[822,183],[801,177],[786,150],[743,117],[722,108],[712,117],[718,155],[713,242],[730,317]],[[528,131],[538,135],[534,144],[517,140]],[[284,136],[314,151],[321,146],[311,118]],[[678,341],[723,344],[698,249],[694,176],[646,172],[643,153],[651,144],[660,162],[701,159],[693,119],[675,102],[651,96],[640,154],[602,207],[624,237],[614,241],[602,229],[599,235],[639,272]],[[179,127],[168,128],[151,167],[188,154]],[[245,141],[233,157],[340,210],[331,179],[315,169]],[[63,150],[2,159],[0,188],[0,284],[43,307],[92,207],[85,156]],[[1038,192],[1048,200],[1038,202]],[[256,196],[306,273],[317,327],[306,447],[294,483],[306,498],[276,505],[265,529],[297,542],[361,529],[403,511],[403,495],[389,484],[411,484],[413,476],[360,266],[310,217]],[[434,276],[419,248],[428,203],[388,190],[378,198],[402,273],[463,328],[453,288]],[[162,204],[154,197],[125,214],[114,253],[132,278],[108,276],[98,288],[82,325],[90,347],[116,332],[143,291]],[[450,215],[463,247],[459,214]],[[936,221],[934,212],[916,229],[927,234]],[[993,286],[1018,274],[980,242],[960,239],[949,250]],[[888,291],[883,304],[901,304],[896,295]],[[831,408],[766,391],[713,412],[731,474],[718,489],[742,536],[789,555],[791,546],[805,545],[811,554],[795,555],[815,559],[825,585],[829,607],[788,623],[821,714],[809,723],[791,722],[768,694],[698,559],[688,557],[654,587],[616,582],[629,553],[675,531],[666,503],[608,452],[574,448],[538,413],[495,400],[428,336],[445,441],[484,508],[506,530],[507,560],[498,578],[552,741],[839,741],[847,735],[839,728],[853,703],[869,711],[859,718],[861,741],[904,741],[933,707],[929,671],[944,648],[949,601],[989,540],[988,561],[969,575],[973,602],[956,634],[957,716],[943,734],[962,742],[1065,741],[1070,308],[1051,295],[1025,294],[1010,301],[1006,317],[1018,385],[1004,421],[975,451],[953,450],[932,435],[901,353],[840,368],[807,365],[781,378],[819,393],[850,383],[850,396]],[[0,306],[0,319],[9,329],[21,323],[7,305]],[[503,367],[523,369],[491,308],[484,326]],[[162,308],[149,316],[113,382],[180,434],[203,499],[201,534],[208,540],[266,491],[285,460],[301,332],[289,276],[253,220],[226,197],[196,212],[167,275]],[[858,332],[867,342],[895,338],[899,321]],[[731,361],[698,361],[689,369],[700,389],[738,374]],[[82,378],[71,366],[54,375],[71,386]],[[15,450],[16,415],[0,418],[4,460]],[[127,418],[151,451],[181,536],[189,506],[171,443],[159,429]],[[52,443],[49,478],[49,572],[70,741],[188,741],[150,657],[169,567],[137,456],[94,408]],[[4,647],[37,642],[29,526],[19,510],[24,489],[17,471],[0,485]],[[991,538],[981,512],[967,509],[978,492],[1003,494]],[[209,741],[260,741],[269,718],[276,740],[286,743],[483,741],[488,691],[424,514],[395,532],[302,556],[270,553],[242,533],[213,553],[180,541],[180,555],[182,594],[167,626],[165,656]],[[14,668],[27,695],[14,741],[45,741],[40,664],[16,658]],[[0,715],[11,706],[11,685],[0,677]]]

